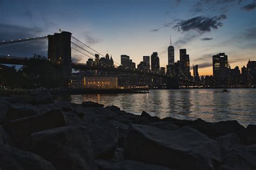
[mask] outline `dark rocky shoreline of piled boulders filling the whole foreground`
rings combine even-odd
[[[0,169],[255,169],[256,125],[0,97]]]

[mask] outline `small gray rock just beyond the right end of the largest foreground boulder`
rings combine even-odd
[[[235,133],[229,133],[225,136],[220,136],[217,142],[224,152],[226,152],[233,145],[241,144],[241,139]]]

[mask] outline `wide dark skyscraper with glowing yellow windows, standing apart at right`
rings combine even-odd
[[[225,53],[219,53],[212,56],[213,77],[217,85],[226,84],[228,72],[228,60]]]

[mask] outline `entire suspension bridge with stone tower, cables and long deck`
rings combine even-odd
[[[0,42],[0,63],[2,64],[28,65],[33,55],[45,56],[47,62],[56,65],[56,68],[58,68],[58,72],[52,74],[56,77],[63,77],[66,80],[71,80],[72,70],[96,70],[96,72],[100,70],[111,72],[112,74],[144,75],[152,80],[163,79],[166,82],[166,88],[178,88],[180,84],[193,84],[193,86],[198,86],[199,84],[199,82],[190,80],[186,76],[177,77],[170,73],[160,72],[160,70],[123,67],[117,62],[114,62],[116,67],[103,65],[99,62],[95,62],[94,65],[82,63],[80,61],[85,61],[86,59],[96,60],[96,55],[105,56],[66,31],[44,37]],[[183,74],[181,70],[180,74]],[[63,86],[68,86],[68,84],[63,84]]]

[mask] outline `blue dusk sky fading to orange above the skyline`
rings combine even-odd
[[[122,54],[138,65],[158,52],[166,66],[170,36],[175,61],[186,48],[199,75],[212,75],[218,53],[231,68],[256,60],[256,0],[0,0],[0,13],[0,41],[61,29],[117,63]]]

